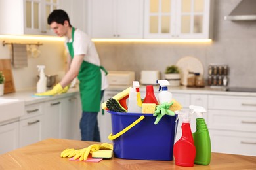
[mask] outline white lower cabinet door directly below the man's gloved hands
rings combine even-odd
[[[60,114],[62,107],[62,99],[44,103],[42,139],[60,138]]]

